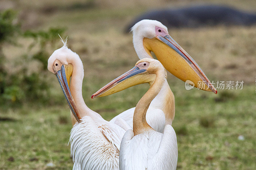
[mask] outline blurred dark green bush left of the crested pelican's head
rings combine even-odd
[[[15,21],[16,16],[12,10],[0,13],[0,103],[7,109],[26,102],[47,103],[49,86],[46,80],[47,60],[49,53],[47,45],[54,49],[56,41],[59,41],[58,34],[64,29],[50,28],[47,31],[33,32],[20,30],[20,24]],[[17,39],[32,39],[26,53],[21,53],[17,60],[10,65],[5,60],[3,44],[11,43],[24,51],[24,44],[18,43]],[[38,45],[35,52],[31,49]],[[23,63],[23,64],[21,64]],[[36,64],[35,64],[36,63]],[[31,64],[31,65],[30,65]],[[37,68],[36,71],[28,71],[29,67]],[[20,66],[17,68],[17,66]],[[8,67],[8,68],[7,68]],[[14,71],[10,71],[14,70]],[[9,70],[9,71],[8,71]],[[8,107],[6,107],[8,106]]]

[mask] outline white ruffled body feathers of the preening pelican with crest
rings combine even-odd
[[[94,122],[84,116],[70,132],[70,151],[74,167],[81,169],[119,169],[120,139],[124,130],[101,120]],[[75,168],[79,169],[79,168]]]

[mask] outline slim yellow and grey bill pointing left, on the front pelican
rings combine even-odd
[[[147,70],[139,69],[135,66],[94,93],[92,99],[95,97],[108,96],[134,85],[148,83],[153,80],[152,76],[155,76],[155,74],[148,74]]]

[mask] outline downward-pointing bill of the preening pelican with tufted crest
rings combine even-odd
[[[68,64],[68,65],[62,65],[61,69],[59,71],[57,71],[56,73],[56,77],[60,83],[60,87],[64,93],[64,96],[68,102],[68,106],[71,110],[71,112],[73,113],[73,115],[75,116],[77,122],[80,122],[81,116],[79,114],[79,111],[76,107],[76,103],[72,97],[72,94],[70,92],[69,89],[69,80],[70,77],[72,75],[73,72],[73,66],[72,64]]]

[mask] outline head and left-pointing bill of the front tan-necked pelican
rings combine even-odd
[[[108,96],[143,83],[152,85],[156,79],[156,75],[164,75],[164,78],[166,78],[167,73],[164,66],[158,60],[143,58],[139,60],[131,70],[114,79],[94,93],[92,98]]]

